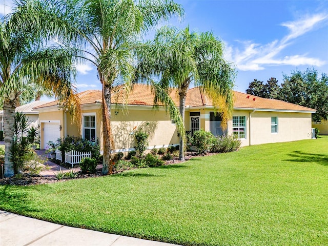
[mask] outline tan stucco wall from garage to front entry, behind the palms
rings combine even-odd
[[[115,112],[118,112],[115,114]],[[64,122],[63,115],[45,113],[41,117],[43,119],[61,119]],[[103,151],[103,124],[101,122],[101,109],[83,109],[83,115],[95,114],[96,116],[96,137],[99,139],[100,151]],[[67,135],[80,136],[79,132],[82,129],[80,124],[74,123],[70,115],[67,114]],[[63,124],[64,125],[64,124]],[[117,151],[128,151],[135,146],[134,133],[143,129],[149,134],[149,148],[161,148],[168,145],[177,145],[179,138],[175,125],[172,125],[169,114],[165,111],[138,110],[138,109],[113,109],[111,110],[111,127],[114,136],[115,149]],[[135,128],[136,127],[136,128]],[[135,128],[135,129],[134,129]],[[65,129],[61,131],[64,136]]]

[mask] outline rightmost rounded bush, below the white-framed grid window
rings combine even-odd
[[[214,137],[211,146],[211,152],[225,153],[237,151],[240,148],[241,141],[233,136],[223,135]]]

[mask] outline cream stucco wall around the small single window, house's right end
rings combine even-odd
[[[271,117],[275,116],[278,133],[271,133]],[[311,138],[311,113],[256,111],[251,114],[251,145]]]

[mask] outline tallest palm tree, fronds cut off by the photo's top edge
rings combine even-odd
[[[22,11],[33,12],[23,10],[24,6]],[[50,0],[34,4],[34,11],[49,16],[44,25],[52,25],[60,42],[80,49],[80,57],[97,69],[103,86],[103,174],[112,172],[112,89],[121,84],[129,87],[133,80],[136,40],[161,20],[182,15],[183,10],[172,0]]]

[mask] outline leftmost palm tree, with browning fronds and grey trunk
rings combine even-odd
[[[75,74],[72,66],[75,52],[40,46],[42,39],[38,31],[33,31],[33,25],[27,22],[18,25],[19,18],[17,13],[13,13],[4,17],[0,24],[0,101],[4,110],[6,177],[14,175],[14,165],[8,150],[13,144],[15,108],[24,86],[28,83],[38,84],[53,90],[60,101],[76,105],[71,84]]]

